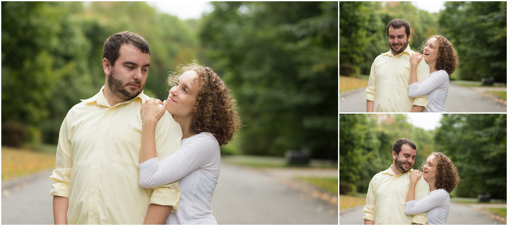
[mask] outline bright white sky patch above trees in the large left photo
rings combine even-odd
[[[161,13],[177,16],[180,20],[200,19],[203,13],[213,11],[210,2],[187,1],[187,2],[146,2]]]

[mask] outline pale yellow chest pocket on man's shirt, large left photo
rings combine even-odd
[[[111,160],[124,165],[138,165],[139,151],[141,149],[141,133],[116,130]]]

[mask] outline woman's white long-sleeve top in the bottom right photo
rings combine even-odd
[[[437,189],[418,202],[406,202],[404,213],[407,215],[427,211],[427,224],[446,224],[450,213],[450,194],[444,189]]]

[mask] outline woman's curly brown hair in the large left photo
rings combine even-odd
[[[190,124],[190,133],[212,133],[220,146],[233,140],[234,133],[242,126],[236,109],[236,100],[229,95],[228,87],[213,69],[200,65],[197,60],[179,64],[175,72],[170,72],[170,88],[180,75],[186,71],[195,71],[201,87],[194,105],[194,117]]]

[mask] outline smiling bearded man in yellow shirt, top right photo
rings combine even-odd
[[[422,112],[429,102],[427,95],[409,98],[409,57],[412,51],[409,24],[394,19],[386,27],[390,50],[376,57],[370,69],[367,96],[367,112]],[[417,67],[418,82],[427,79],[430,69],[422,60]]]

